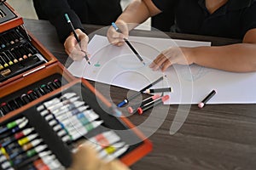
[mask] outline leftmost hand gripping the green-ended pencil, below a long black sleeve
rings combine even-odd
[[[79,37],[80,46],[76,38],[74,37],[73,33],[71,33],[70,36],[67,37],[66,41],[64,42],[64,47],[65,47],[66,53],[73,60],[82,60],[84,58],[84,55],[87,53],[87,44],[88,44],[89,38],[80,29],[76,29],[75,31]]]

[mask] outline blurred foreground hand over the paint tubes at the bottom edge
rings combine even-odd
[[[129,170],[121,161],[105,162],[96,155],[96,150],[90,144],[81,144],[73,156],[70,170]]]

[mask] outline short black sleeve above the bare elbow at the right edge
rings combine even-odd
[[[253,28],[256,28],[256,1],[254,1],[254,3],[251,4],[243,14],[241,32],[245,35],[247,31]]]

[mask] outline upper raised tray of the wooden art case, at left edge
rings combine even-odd
[[[57,59],[28,33],[23,20],[8,3],[0,3],[0,87]]]

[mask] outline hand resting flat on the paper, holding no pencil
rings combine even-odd
[[[168,48],[158,55],[149,67],[154,71],[158,69],[166,71],[166,69],[173,64],[191,65],[194,63],[194,60],[192,59],[192,52],[193,48]]]

